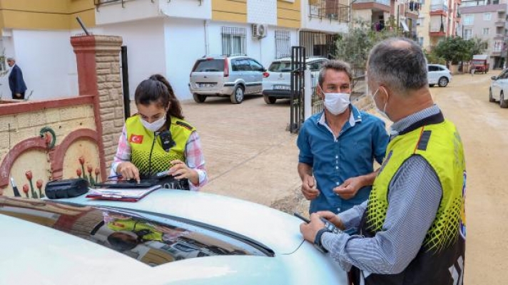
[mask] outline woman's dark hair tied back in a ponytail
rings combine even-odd
[[[161,108],[169,105],[166,120],[176,117],[183,120],[182,106],[168,80],[161,74],[154,74],[139,83],[134,93],[136,105],[150,105],[156,103]]]

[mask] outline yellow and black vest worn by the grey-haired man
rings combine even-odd
[[[398,135],[390,142],[362,217],[360,233],[374,237],[377,232],[383,231],[388,209],[388,187],[400,166],[413,155],[425,158],[435,170],[443,191],[440,207],[420,252],[407,268],[400,274],[370,274],[365,284],[462,282],[466,171],[462,141],[453,123],[447,120]]]

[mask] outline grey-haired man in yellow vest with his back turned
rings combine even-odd
[[[317,212],[300,231],[357,285],[462,285],[464,152],[457,129],[432,101],[422,48],[407,38],[378,43],[367,81],[377,109],[394,122],[370,197],[338,215]],[[332,233],[320,217],[359,232]]]

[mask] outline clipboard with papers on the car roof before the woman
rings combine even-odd
[[[105,199],[123,202],[138,202],[146,195],[161,188],[161,185],[137,188],[96,188],[88,191],[86,198]]]

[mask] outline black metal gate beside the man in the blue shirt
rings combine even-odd
[[[298,133],[303,123],[303,90],[305,88],[305,47],[291,47],[290,127]]]

